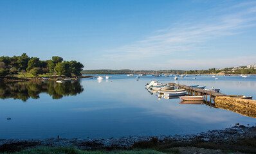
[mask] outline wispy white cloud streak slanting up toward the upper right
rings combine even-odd
[[[214,44],[209,45],[206,42],[223,36],[244,33],[246,31],[244,28],[256,25],[256,3],[240,3],[223,8],[223,10],[225,9],[233,13],[223,13],[223,11],[223,14],[217,15],[217,17],[215,15],[209,16],[209,19],[202,20],[197,24],[190,22],[177,23],[175,26],[165,30],[156,30],[154,32],[155,35],[143,40],[107,50],[100,57],[100,60],[107,59],[125,63],[132,60],[152,60],[170,55],[172,55],[172,60],[174,60],[178,58],[176,55],[179,55],[179,53],[207,51]],[[188,59],[189,57],[184,55],[183,58]],[[228,60],[228,62],[231,61]],[[185,66],[185,64],[181,65]],[[161,68],[161,65],[159,65],[159,68]]]

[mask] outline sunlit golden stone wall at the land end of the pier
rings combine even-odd
[[[215,107],[256,118],[255,100],[219,96],[215,98]]]

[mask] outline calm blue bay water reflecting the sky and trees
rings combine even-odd
[[[256,76],[188,76],[176,82],[221,88],[224,94],[256,98]],[[174,82],[174,76],[110,75],[56,83],[0,83],[0,139],[106,138],[128,135],[199,133],[256,123],[255,118],[208,105],[158,99],[144,87],[151,80]]]

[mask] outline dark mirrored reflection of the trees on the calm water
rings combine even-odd
[[[40,93],[46,93],[53,99],[60,99],[63,96],[76,96],[84,89],[80,85],[80,81],[65,81],[64,83],[56,83],[56,81],[28,81],[3,83],[0,82],[0,98],[14,98],[27,101],[29,98],[40,98]]]

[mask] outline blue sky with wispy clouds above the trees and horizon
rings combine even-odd
[[[256,1],[3,1],[0,56],[61,56],[84,69],[256,63]]]

